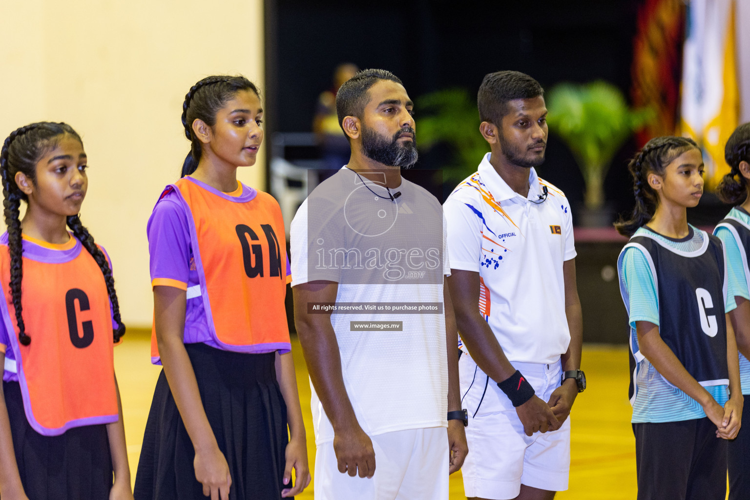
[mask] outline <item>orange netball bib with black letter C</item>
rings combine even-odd
[[[37,433],[58,436],[71,427],[118,419],[110,297],[104,276],[80,241],[49,248],[23,241],[21,304],[31,343],[18,341],[10,294],[7,233],[0,238],[0,313],[23,395]]]

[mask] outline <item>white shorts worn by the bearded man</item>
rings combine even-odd
[[[341,474],[333,442],[318,445],[316,500],[448,500],[446,427],[398,430],[370,439],[375,449],[370,479]]]

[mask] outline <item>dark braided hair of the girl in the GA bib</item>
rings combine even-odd
[[[193,121],[201,120],[208,127],[216,124],[216,113],[241,90],[251,90],[260,97],[260,91],[245,76],[206,76],[190,87],[182,103],[182,126],[185,137],[190,141],[190,152],[182,164],[180,177],[190,175],[198,168],[201,142],[193,133]]]

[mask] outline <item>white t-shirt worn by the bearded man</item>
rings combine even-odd
[[[341,169],[302,203],[290,230],[292,286],[335,281],[337,304],[440,304],[430,314],[332,313],[344,385],[371,436],[447,426],[446,222],[422,187],[402,179],[391,192],[401,196],[392,201],[382,186]],[[361,331],[351,322],[402,322],[403,331]],[[311,388],[316,442],[332,441]]]

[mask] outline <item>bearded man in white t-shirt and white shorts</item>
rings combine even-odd
[[[349,163],[291,224],[315,498],[448,500],[466,413],[442,207],[401,177],[417,160],[413,103],[392,73],[363,70],[336,107]]]

